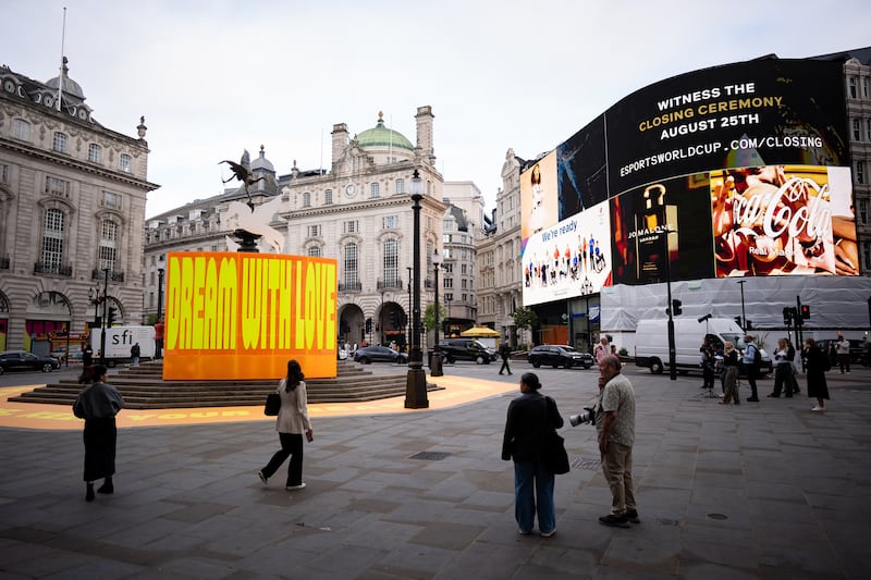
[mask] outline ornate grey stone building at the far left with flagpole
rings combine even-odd
[[[66,62],[45,83],[0,67],[0,350],[63,356],[48,340],[84,332],[103,307],[142,319],[145,202],[158,187],[145,119],[136,137],[101,125]]]

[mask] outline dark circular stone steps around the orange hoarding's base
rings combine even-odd
[[[148,362],[114,374],[130,409],[261,406],[277,381],[163,381],[160,362]],[[356,362],[339,361],[334,379],[306,380],[309,403],[355,403],[405,395],[406,375],[373,374]],[[439,387],[428,384],[427,390]],[[37,387],[9,400],[72,405],[82,385],[72,379]]]

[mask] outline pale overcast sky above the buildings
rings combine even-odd
[[[279,174],[330,166],[330,132],[378,111],[415,143],[436,115],[445,180],[495,201],[511,147],[553,149],[649,84],[769,53],[871,45],[867,0],[2,0],[0,64],[70,77],[94,116],[136,136],[145,115],[154,215],[222,190],[222,159],[260,145]]]

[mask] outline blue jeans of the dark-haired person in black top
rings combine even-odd
[[[554,474],[545,471],[538,461],[514,462],[514,519],[520,531],[532,531],[536,513],[540,532],[551,532],[556,528],[554,479]]]

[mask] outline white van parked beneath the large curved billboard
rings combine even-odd
[[[674,319],[675,368],[682,374],[689,371],[701,372],[699,359],[702,341],[707,337],[714,353],[723,351],[723,344],[729,341],[738,350],[744,350],[745,332],[728,318],[709,318],[699,322],[695,318]],[[772,371],[771,358],[763,349],[760,375]],[[635,363],[647,367],[652,373],[661,373],[668,367],[668,321],[641,320],[635,331]]]

